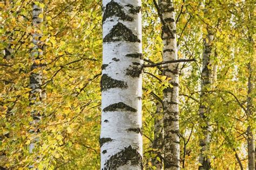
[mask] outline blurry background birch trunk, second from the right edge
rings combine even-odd
[[[208,31],[208,35],[206,36],[206,39],[204,39],[204,52],[203,52],[203,64],[202,64],[202,72],[201,72],[201,91],[207,91],[209,87],[212,85],[213,80],[213,73],[211,70],[211,62],[210,57],[212,54],[212,41],[213,41],[213,34],[210,30]],[[210,123],[208,122],[207,114],[209,112],[209,109],[204,104],[204,98],[206,97],[205,92],[201,92],[200,94],[200,106],[199,106],[199,114],[202,120],[200,123],[202,123],[201,130],[203,131],[203,137],[200,140],[200,155],[199,155],[199,163],[201,164],[199,166],[199,169],[210,169],[211,168],[211,162],[210,159],[207,158],[207,150],[208,145],[210,143]],[[203,124],[206,124],[206,126],[203,126]]]

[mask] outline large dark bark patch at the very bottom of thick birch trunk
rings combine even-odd
[[[136,148],[132,148],[131,145],[129,147],[125,147],[117,154],[112,155],[104,164],[104,170],[117,169],[118,167],[127,165],[129,163],[135,166],[139,165],[141,168],[143,168],[142,155],[139,154]]]

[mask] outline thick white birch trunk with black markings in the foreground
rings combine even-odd
[[[103,1],[100,169],[142,169],[141,1]]]

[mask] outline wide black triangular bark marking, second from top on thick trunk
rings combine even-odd
[[[119,41],[140,43],[140,40],[136,35],[132,33],[132,30],[127,28],[124,24],[118,22],[110,30],[110,33],[108,33],[103,38],[103,42],[106,43],[106,42],[119,42]]]

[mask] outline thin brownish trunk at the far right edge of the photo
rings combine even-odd
[[[251,63],[248,64],[248,71],[249,71],[249,77],[248,77],[248,96],[247,96],[247,117],[248,119],[251,119],[253,117],[253,106],[252,106],[252,89],[253,89],[253,83],[252,83],[252,67]],[[247,127],[247,148],[248,148],[248,168],[249,170],[255,169],[255,147],[254,147],[254,137],[252,132],[252,127],[249,125]]]

